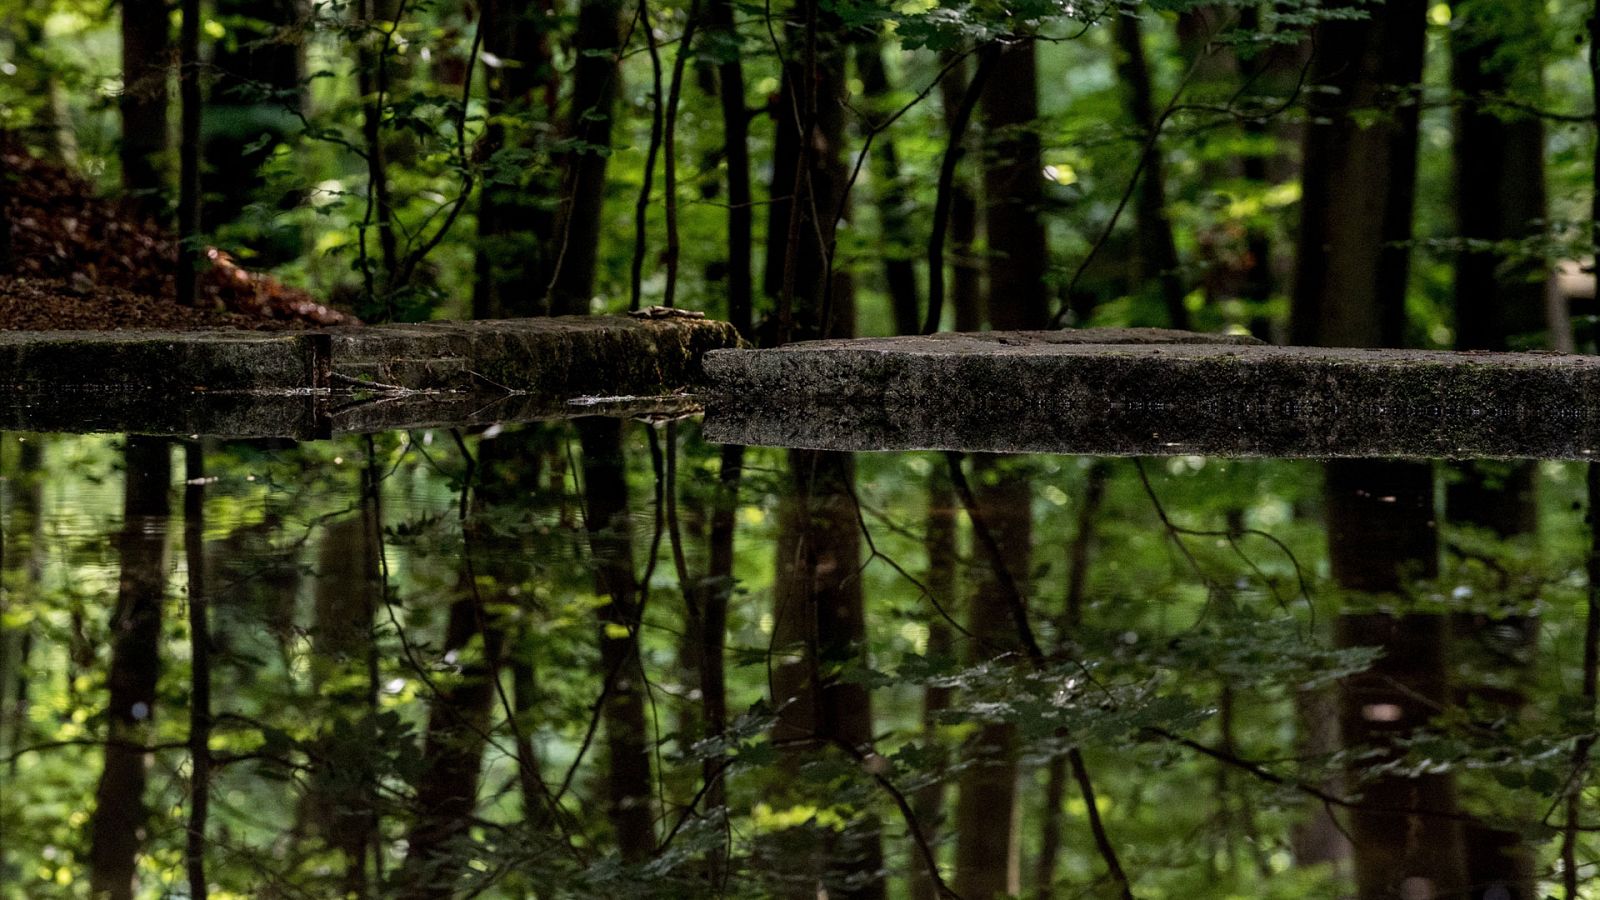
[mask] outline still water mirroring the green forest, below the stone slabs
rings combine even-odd
[[[5,898],[1600,881],[1576,463],[584,420],[0,476]]]

